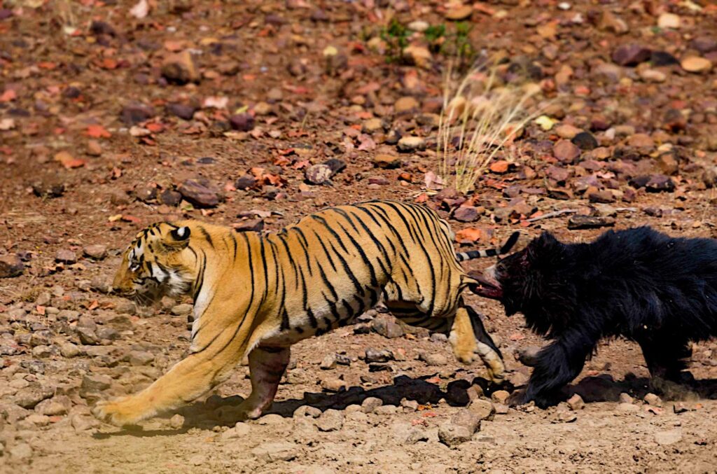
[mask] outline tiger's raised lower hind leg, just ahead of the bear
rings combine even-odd
[[[469,364],[478,354],[488,370],[488,376],[494,382],[503,381],[505,365],[498,347],[493,343],[483,327],[478,313],[462,303],[458,307],[448,336],[453,354],[464,364]]]

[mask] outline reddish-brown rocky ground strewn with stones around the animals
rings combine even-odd
[[[296,345],[260,420],[235,425],[246,366],[136,430],[90,415],[187,349],[191,302],[107,294],[160,219],[273,231],[391,197],[438,209],[464,249],[513,229],[714,237],[710,1],[0,3],[0,471],[714,472],[716,343],[689,391],[650,393],[637,346],[606,341],[569,402],[512,409],[543,341],[474,296],[505,387],[379,308]],[[437,179],[442,77],[481,57],[540,116],[462,195]]]

